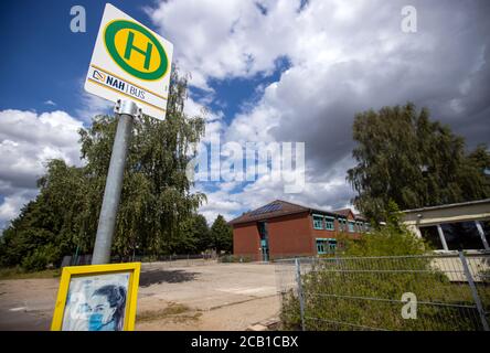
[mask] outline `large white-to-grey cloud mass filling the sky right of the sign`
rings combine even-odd
[[[267,75],[279,57],[290,63],[255,106],[214,129],[223,142],[305,141],[309,186],[295,196],[266,180],[238,193],[209,189],[211,202],[202,208],[207,214],[232,215],[278,197],[348,204],[352,121],[370,108],[412,100],[467,132],[470,143],[488,141],[488,2],[414,0],[418,32],[412,34],[401,31],[404,1],[311,0],[298,11],[299,3],[170,0],[148,11],[194,86]]]

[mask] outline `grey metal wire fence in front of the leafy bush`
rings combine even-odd
[[[286,330],[489,330],[490,254],[275,264]]]

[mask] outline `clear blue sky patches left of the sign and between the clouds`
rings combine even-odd
[[[70,1],[18,1],[0,4],[0,40],[9,47],[0,66],[0,109],[43,111],[46,109],[46,101],[52,100],[56,103],[56,109],[76,116],[76,110],[81,108],[81,99],[77,98],[81,95],[81,81],[87,72],[105,3],[106,1],[94,0],[76,2],[87,13],[85,33],[70,31],[70,21],[73,18],[70,10],[75,4]],[[155,28],[143,10],[152,6],[153,1],[111,3],[143,24]],[[257,74],[247,79],[211,78],[209,85],[220,99],[211,101],[209,107],[223,110],[225,118],[231,119],[239,111],[242,104],[257,99],[258,85],[276,82],[287,67],[287,58],[280,57],[277,60],[277,69],[269,75]],[[19,88],[22,94],[19,94]],[[200,97],[202,90],[191,87],[191,94]]]

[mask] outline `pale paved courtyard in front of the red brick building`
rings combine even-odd
[[[0,330],[49,330],[58,279],[0,281]],[[245,330],[278,315],[274,265],[143,264],[136,330]]]

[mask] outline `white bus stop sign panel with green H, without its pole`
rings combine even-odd
[[[106,4],[85,90],[116,103],[132,100],[142,113],[164,119],[173,45]]]

